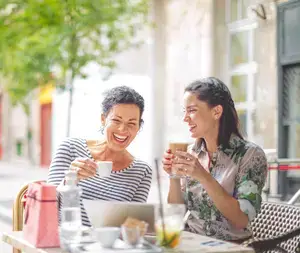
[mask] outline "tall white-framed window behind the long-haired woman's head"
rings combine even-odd
[[[255,21],[248,19],[250,0],[227,0],[228,80],[240,119],[240,129],[248,139],[254,139]]]

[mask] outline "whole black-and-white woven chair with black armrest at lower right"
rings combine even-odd
[[[300,253],[300,207],[263,202],[251,226],[253,239],[243,245],[256,252]]]

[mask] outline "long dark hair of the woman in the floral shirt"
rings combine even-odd
[[[218,145],[227,147],[232,134],[243,139],[239,131],[239,118],[228,87],[215,77],[203,78],[192,82],[185,88],[210,107],[221,105],[223,113],[220,119]]]

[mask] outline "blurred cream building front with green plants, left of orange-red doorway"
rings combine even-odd
[[[0,84],[0,160],[40,164],[40,103],[30,103],[27,116],[21,106],[12,106]],[[30,131],[28,131],[30,130]]]

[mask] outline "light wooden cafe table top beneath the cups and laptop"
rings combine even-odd
[[[3,242],[8,243],[14,248],[21,250],[23,253],[63,253],[63,251],[60,248],[46,248],[46,249],[35,248],[34,246],[30,245],[26,240],[24,240],[22,231],[7,232],[7,233],[3,232],[1,237]],[[185,231],[182,233],[181,238],[182,238],[181,245],[176,250],[165,250],[163,252],[255,253],[254,250],[251,248],[246,248],[238,244],[224,242],[210,237],[196,235]],[[142,252],[151,252],[151,251],[150,250],[143,251],[138,249],[134,249],[134,250],[111,249],[111,250],[92,250],[92,251],[88,250],[84,252],[86,253],[141,252],[142,253]]]

